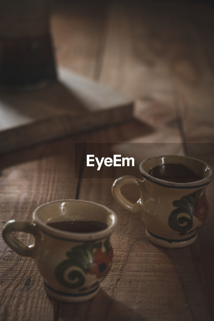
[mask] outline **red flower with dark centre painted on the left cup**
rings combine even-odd
[[[101,249],[97,249],[94,252],[94,260],[89,265],[89,274],[95,274],[97,279],[100,279],[107,275],[109,271],[110,263],[113,257],[113,250],[110,247],[109,254],[102,252]]]

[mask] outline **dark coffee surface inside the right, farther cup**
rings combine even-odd
[[[149,175],[174,183],[190,183],[202,178],[181,164],[164,164],[149,170]]]

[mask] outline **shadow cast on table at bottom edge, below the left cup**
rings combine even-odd
[[[59,303],[58,308],[58,319],[63,321],[146,321],[134,309],[111,299],[103,289],[90,301],[78,304]]]

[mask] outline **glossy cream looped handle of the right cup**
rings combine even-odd
[[[130,202],[127,198],[125,198],[122,195],[120,191],[120,188],[123,185],[127,185],[127,184],[134,184],[140,190],[140,198],[136,203]],[[148,194],[146,187],[144,185],[144,182],[134,176],[129,176],[129,175],[121,176],[115,179],[111,187],[111,193],[117,203],[119,203],[123,208],[125,208],[126,210],[132,213],[138,213],[142,210],[141,204],[143,203],[143,195]]]

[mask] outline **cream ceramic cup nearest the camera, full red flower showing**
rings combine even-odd
[[[97,232],[68,232],[47,223],[99,221],[107,225]],[[17,253],[31,256],[38,267],[47,293],[63,302],[93,298],[108,274],[113,251],[110,235],[117,216],[109,208],[82,200],[59,200],[42,204],[33,212],[33,221],[11,220],[3,228],[5,242]],[[31,233],[35,243],[27,246],[13,231]]]

